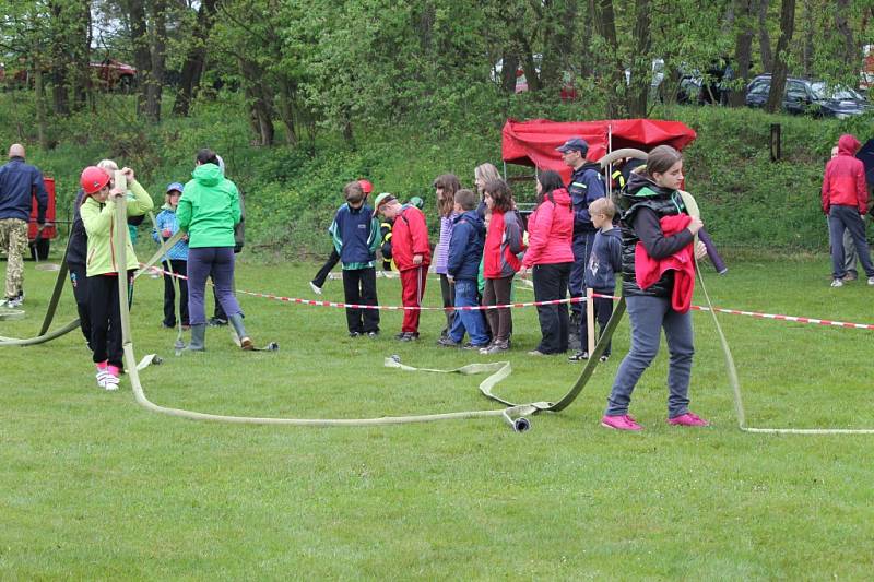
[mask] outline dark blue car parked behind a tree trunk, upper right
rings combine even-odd
[[[746,86],[746,105],[764,107],[771,91],[771,75],[760,74]],[[829,86],[823,81],[790,76],[783,91],[783,109],[790,114],[808,114],[815,117],[848,117],[871,110],[871,104],[858,91],[840,85]]]

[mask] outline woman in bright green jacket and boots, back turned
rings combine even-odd
[[[224,177],[215,152],[198,152],[192,180],[185,185],[176,209],[179,229],[188,234],[188,314],[191,343],[202,352],[206,335],[204,290],[206,277],[215,283],[215,295],[234,326],[243,349],[253,344],[243,325],[243,311],[234,296],[234,227],[240,221],[239,191]]]

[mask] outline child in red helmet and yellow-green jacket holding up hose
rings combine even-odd
[[[118,389],[118,377],[122,368],[121,311],[118,296],[118,277],[128,277],[128,287],[133,285],[133,272],[139,266],[137,254],[130,240],[127,224],[120,225],[125,231],[127,246],[126,264],[117,263],[113,236],[116,228],[116,203],[128,198],[128,216],[142,216],[154,207],[152,197],[137,181],[133,170],[123,168],[130,193],[114,188],[109,174],[97,166],[88,166],[82,171],[80,183],[84,191],[80,215],[88,237],[85,274],[88,285],[88,309],[91,311],[91,347],[97,367],[97,385],[106,390]]]

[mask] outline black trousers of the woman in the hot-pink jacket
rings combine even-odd
[[[534,300],[552,301],[567,297],[568,278],[572,262],[535,264]],[[567,352],[568,314],[567,305],[539,305],[538,320],[543,338],[538,352],[543,354],[564,354]]]

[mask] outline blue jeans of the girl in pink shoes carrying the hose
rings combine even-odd
[[[628,414],[637,381],[659,353],[661,330],[671,354],[668,367],[668,417],[689,412],[689,377],[695,354],[692,332],[692,311],[677,313],[671,309],[669,297],[627,297],[631,321],[631,349],[622,360],[607,397],[607,416]]]

